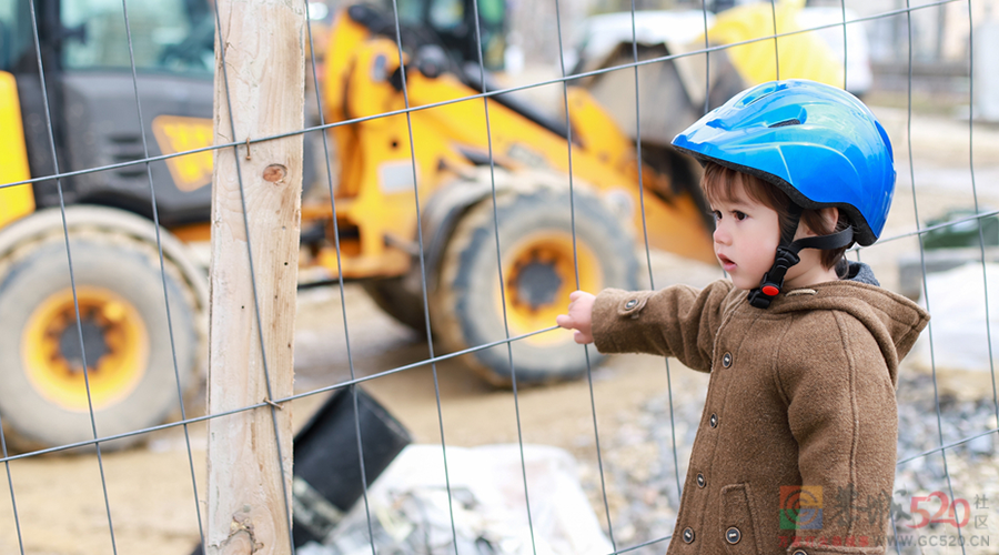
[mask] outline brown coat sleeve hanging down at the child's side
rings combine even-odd
[[[807,332],[789,334],[777,359],[801,474],[801,508],[781,518],[797,528],[787,553],[881,554],[895,482],[895,386],[867,327],[841,312],[817,317],[796,324],[833,333],[808,343]],[[797,508],[794,492],[780,498],[781,511]]]

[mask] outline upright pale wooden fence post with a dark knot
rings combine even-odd
[[[221,29],[215,36],[215,143],[302,129],[304,2],[216,1]],[[270,395],[292,393],[301,192],[302,135],[215,151],[210,414],[269,400],[264,356]],[[248,245],[253,250],[258,299]],[[208,433],[206,555],[290,553],[291,407],[268,405],[212,418]]]

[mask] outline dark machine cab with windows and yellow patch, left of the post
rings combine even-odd
[[[204,1],[130,3],[131,43],[120,4],[36,2],[48,99],[41,91],[28,2],[0,0],[0,4],[6,4],[0,19],[8,19],[3,21],[9,31],[4,42],[11,46],[4,49],[7,65],[0,69],[17,81],[31,175],[54,173],[52,140],[61,172],[145,158],[134,108],[135,87],[142,100],[149,155],[186,150],[196,139],[211,143],[214,18]],[[130,52],[135,63],[134,85]],[[211,181],[211,153],[153,162],[150,170],[161,223],[208,219],[211,190],[205,185]],[[65,203],[110,205],[151,216],[143,165],[60,181]],[[39,209],[58,205],[56,182],[34,184],[34,201]]]

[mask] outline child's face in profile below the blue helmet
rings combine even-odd
[[[736,287],[759,286],[764,274],[774,265],[780,243],[780,222],[777,212],[746,194],[741,178],[737,178],[730,200],[715,200],[715,256],[731,276]]]

